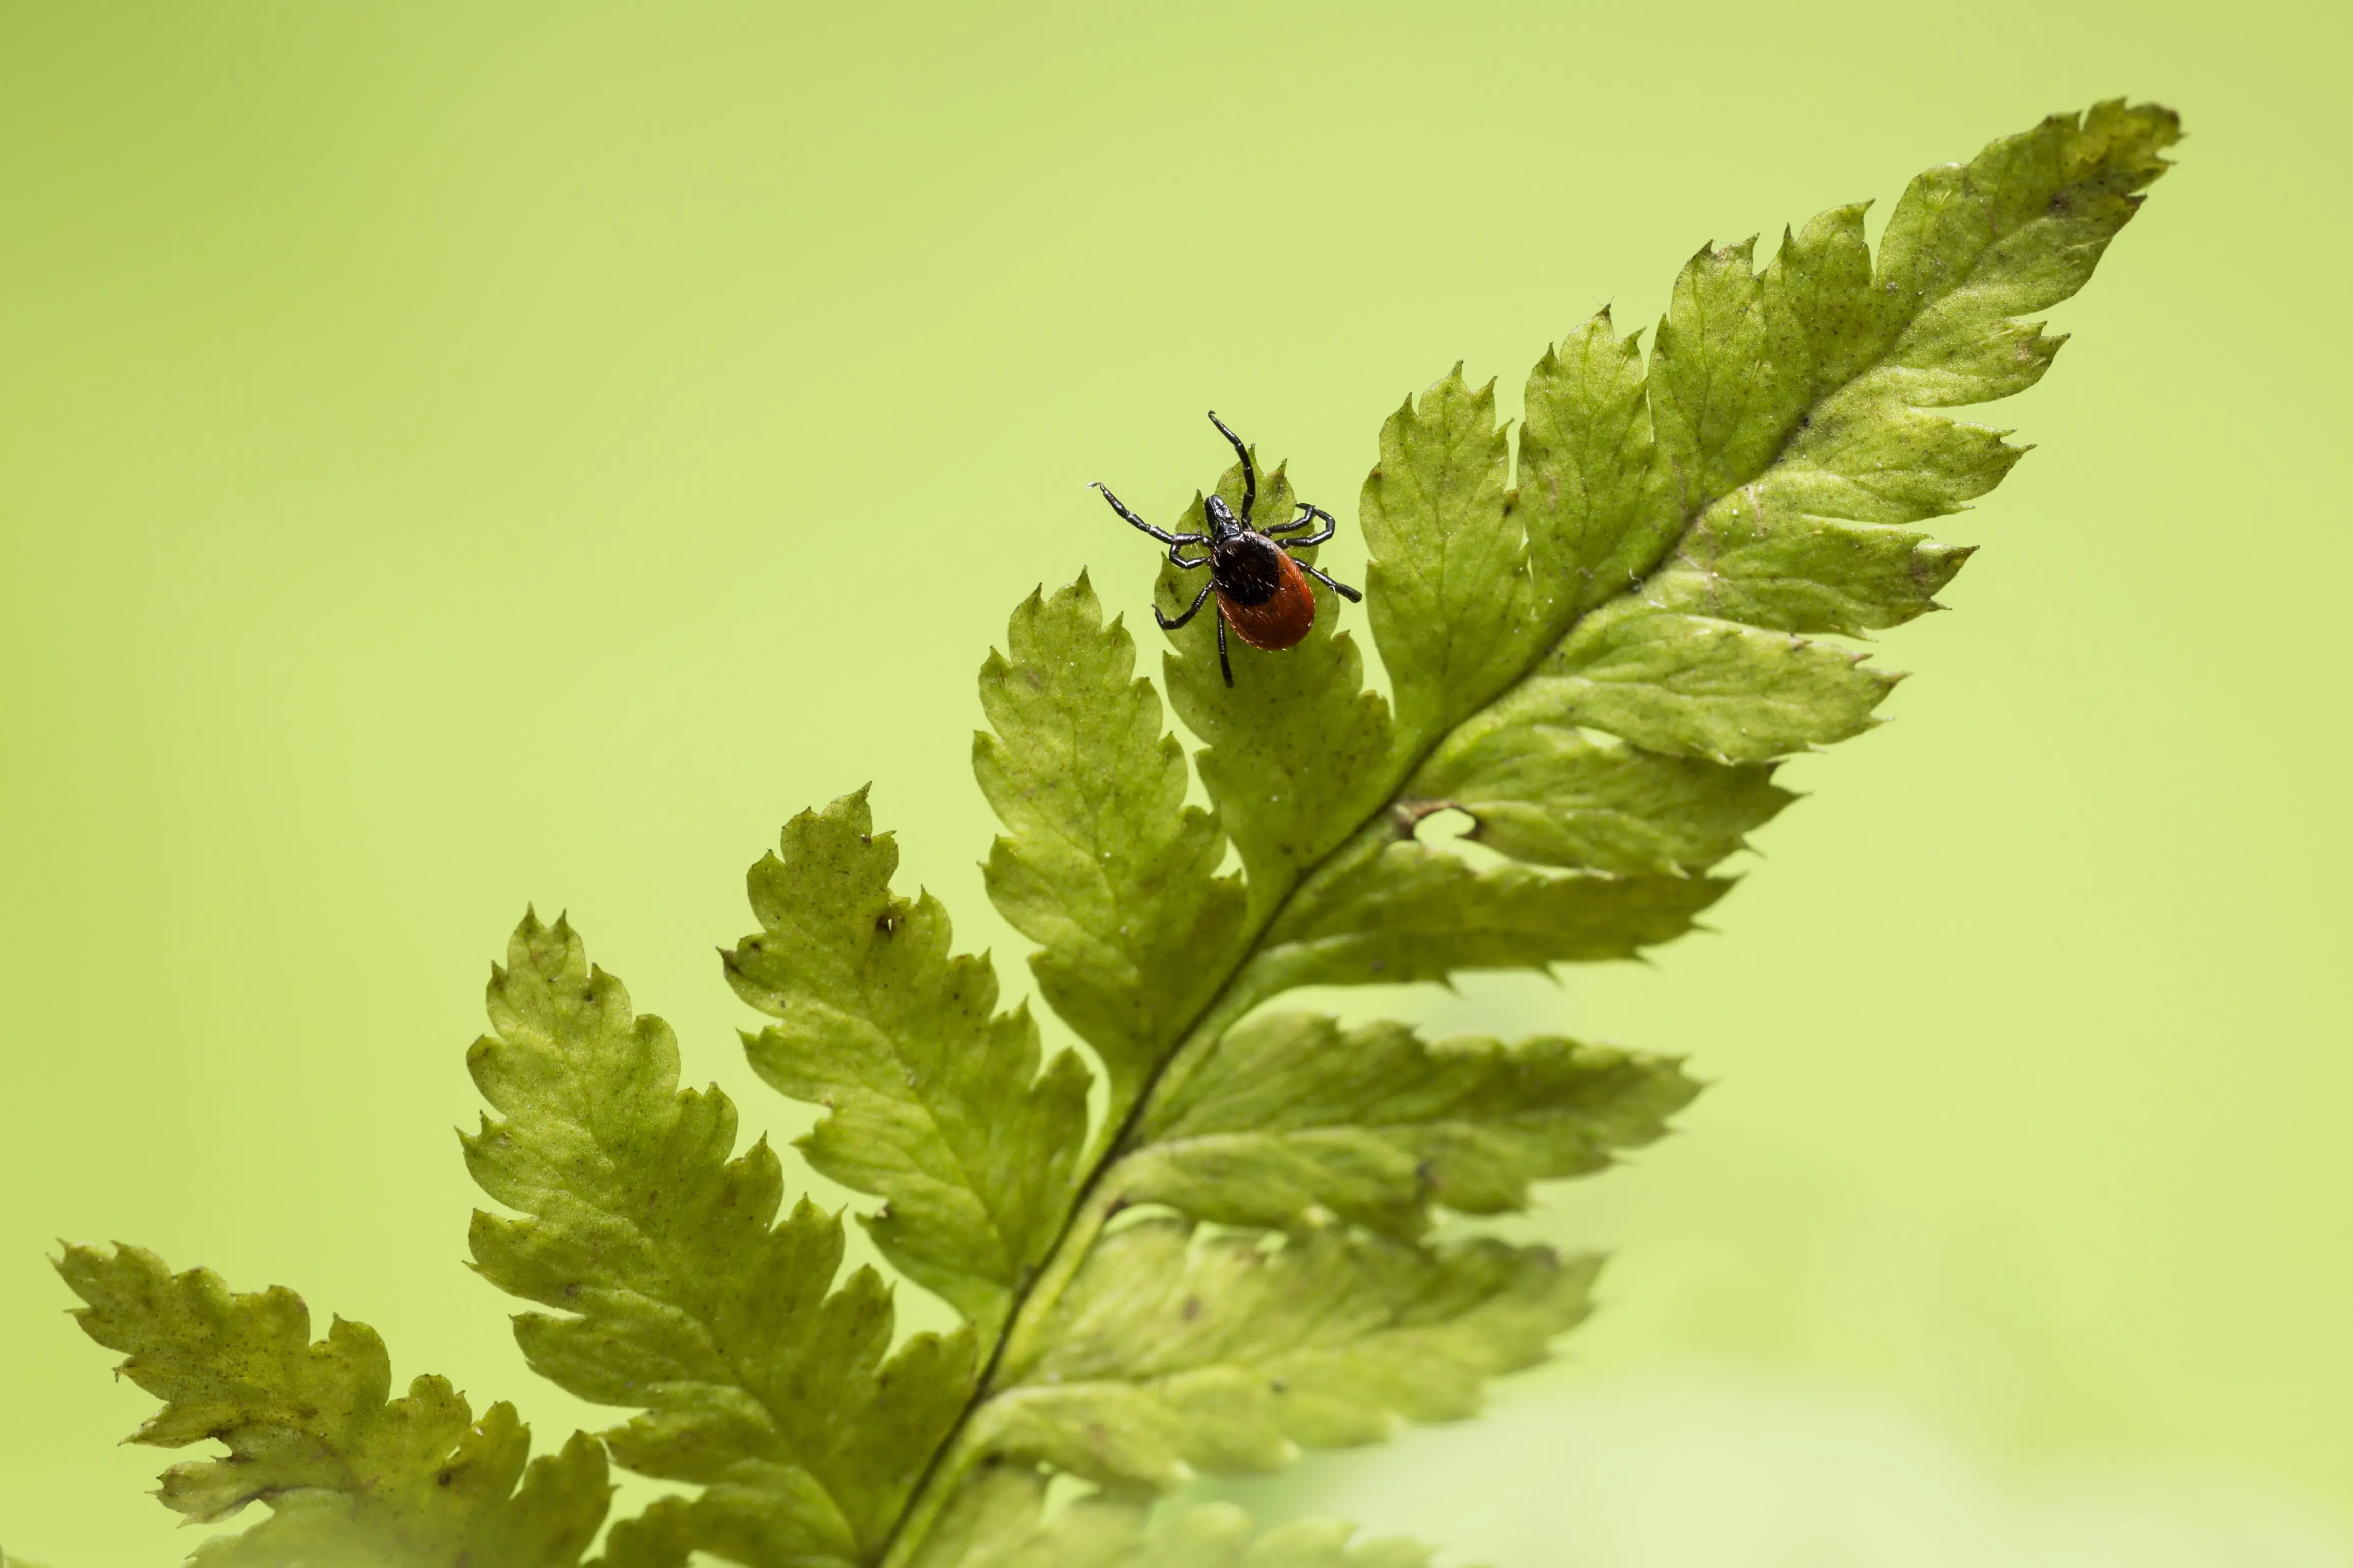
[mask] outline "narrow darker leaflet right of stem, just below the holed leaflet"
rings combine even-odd
[[[1631,959],[1689,931],[1729,889],[1704,877],[1473,870],[1374,827],[1268,926],[1235,990],[1264,1001],[1299,985],[1402,985],[1464,969]]]

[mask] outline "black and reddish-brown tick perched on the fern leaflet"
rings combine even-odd
[[[1217,668],[1226,672],[1226,684],[1233,684],[1233,661],[1226,656],[1226,625],[1233,625],[1233,635],[1254,649],[1266,649],[1268,654],[1280,654],[1282,649],[1299,646],[1299,639],[1308,635],[1315,625],[1315,590],[1308,588],[1313,576],[1318,583],[1337,592],[1339,597],[1358,604],[1365,595],[1346,583],[1337,583],[1315,567],[1301,559],[1292,559],[1292,550],[1304,545],[1320,545],[1332,538],[1339,527],[1332,512],[1320,505],[1308,505],[1306,501],[1294,503],[1299,515],[1289,522],[1278,522],[1271,529],[1254,527],[1249,522],[1249,508],[1259,503],[1259,470],[1249,461],[1249,447],[1242,437],[1226,428],[1214,411],[1209,423],[1217,425],[1219,435],[1233,442],[1233,456],[1242,458],[1242,515],[1235,517],[1233,508],[1226,505],[1224,496],[1209,496],[1202,510],[1209,520],[1207,534],[1169,534],[1167,529],[1155,529],[1144,522],[1127,505],[1111,494],[1106,484],[1094,489],[1104,491],[1104,501],[1111,510],[1136,524],[1160,543],[1169,548],[1169,562],[1184,571],[1195,571],[1200,567],[1209,569],[1209,581],[1193,604],[1181,616],[1165,616],[1158,604],[1153,604],[1153,621],[1160,623],[1162,632],[1174,632],[1179,625],[1200,614],[1200,607],[1217,595]],[[1322,524],[1322,531],[1308,534],[1306,538],[1282,538],[1282,534],[1299,534],[1301,529],[1313,529]],[[1181,550],[1186,545],[1200,545],[1202,555],[1186,559]]]

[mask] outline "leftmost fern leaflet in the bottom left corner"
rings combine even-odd
[[[391,1356],[365,1324],[336,1319],[313,1342],[292,1291],[231,1293],[134,1246],[68,1246],[56,1272],[87,1302],[82,1333],[122,1352],[120,1373],[165,1401],[132,1441],[228,1448],[167,1469],[165,1507],[191,1523],[271,1507],[198,1547],[207,1568],[569,1568],[605,1521],[612,1488],[593,1439],[572,1434],[562,1453],[529,1460],[532,1434],[508,1403],[475,1422],[445,1378],[393,1399]]]

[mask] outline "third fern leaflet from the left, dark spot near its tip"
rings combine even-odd
[[[988,959],[951,957],[946,910],[894,898],[896,867],[864,790],[802,811],[751,870],[760,933],[727,978],[781,1020],[744,1037],[751,1065],[831,1112],[795,1147],[887,1199],[882,1255],[993,1335],[1071,1206],[1089,1079],[1068,1051],[1038,1074],[1028,1009],[993,1013]]]

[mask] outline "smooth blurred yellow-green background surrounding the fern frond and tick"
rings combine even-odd
[[[1421,1514],[1355,1490],[1480,1544],[1445,1476],[1572,1486],[1673,1385],[1781,1410],[1727,1476],[1817,1401],[1995,1490],[2344,1519],[2348,45],[2278,0],[0,5],[0,1542],[188,1544],[56,1237],[593,1420],[459,1262],[487,959],[569,910],[795,1131],[711,947],[776,823],[871,778],[1021,980],[972,677],[1038,581],[1141,611],[1087,480],[1172,512],[1217,407],[1353,576],[1377,425],[1457,360],[1515,411],[1699,242],[2127,92],[2191,141],[1991,414],[2040,451],[1887,639],[1899,722],[1791,769],[1720,936],[1409,1001],[1718,1086],[1534,1222],[1621,1248],[1569,1359],[1374,1460],[1440,1476]],[[1687,1535],[1652,1481],[1617,1505]],[[1685,1561],[1617,1552],[1574,1561]]]

